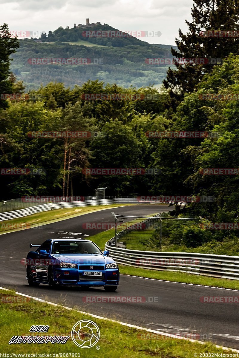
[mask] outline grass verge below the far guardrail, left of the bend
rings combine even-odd
[[[97,211],[99,209],[110,209],[110,208],[117,208],[119,206],[128,206],[128,205],[134,205],[134,204],[91,205],[86,207],[65,208],[65,209],[44,211],[42,213],[24,216],[23,218],[1,221],[0,232],[10,231],[11,228],[12,230],[15,230],[20,228],[24,229],[24,228],[36,227],[38,224],[57,221],[58,219],[61,218],[68,219],[81,214],[86,214],[88,212]]]

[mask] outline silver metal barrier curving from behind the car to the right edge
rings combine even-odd
[[[111,240],[106,243],[105,250],[123,265],[239,280],[239,256],[127,250],[110,246]]]

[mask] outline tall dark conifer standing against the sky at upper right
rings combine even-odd
[[[220,58],[230,53],[239,54],[239,6],[236,0],[194,0],[192,22],[186,21],[189,32],[176,39],[178,50],[171,49],[176,58]],[[236,31],[238,37],[209,37],[204,31]],[[175,108],[184,93],[193,92],[205,73],[214,64],[176,62],[176,69],[169,68],[164,86],[170,89],[171,105]]]

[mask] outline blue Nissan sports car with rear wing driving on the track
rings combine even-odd
[[[25,262],[30,286],[103,286],[111,292],[119,286],[117,263],[90,240],[51,239],[30,247],[38,247]]]

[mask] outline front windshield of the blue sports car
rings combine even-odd
[[[84,241],[56,241],[53,243],[52,253],[59,254],[92,254],[92,253],[102,253],[100,249],[93,242],[84,242]]]

